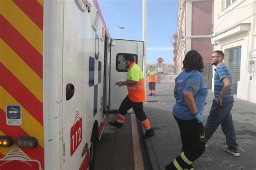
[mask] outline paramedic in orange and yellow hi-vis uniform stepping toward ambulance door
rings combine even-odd
[[[125,115],[129,109],[133,109],[136,117],[142,123],[146,129],[146,133],[143,138],[149,138],[154,136],[154,130],[150,126],[149,119],[143,110],[143,102],[145,101],[145,87],[144,87],[144,76],[142,69],[134,62],[132,54],[125,54],[123,56],[126,68],[128,68],[127,80],[122,82],[116,82],[115,85],[127,86],[128,95],[124,98],[118,111],[118,117],[116,122],[110,122],[109,124],[116,127],[122,128],[125,120]]]

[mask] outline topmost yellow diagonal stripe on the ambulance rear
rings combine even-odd
[[[0,5],[1,14],[12,26],[18,30],[30,44],[43,54],[43,32],[18,6],[10,1],[4,0]]]

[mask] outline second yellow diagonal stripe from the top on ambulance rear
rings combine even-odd
[[[42,79],[2,39],[0,39],[0,47],[0,53],[8,56],[0,58],[0,62],[43,103]]]

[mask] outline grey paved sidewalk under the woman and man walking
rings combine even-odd
[[[147,96],[147,102],[144,103],[144,111],[156,133],[154,137],[146,139],[154,170],[164,169],[181,152],[179,128],[172,115],[175,104],[173,89],[174,81],[157,84],[157,96]],[[204,124],[213,96],[213,92],[209,90],[204,109]],[[235,98],[232,115],[240,157],[233,157],[223,151],[225,136],[219,127],[208,141],[204,154],[193,163],[194,169],[256,169],[256,104]]]

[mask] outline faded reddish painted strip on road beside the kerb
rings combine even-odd
[[[137,121],[135,114],[131,114],[132,123],[132,143],[133,143],[133,155],[134,155],[134,169],[144,170],[143,158],[142,158],[142,148],[139,142],[139,133],[137,128]]]

